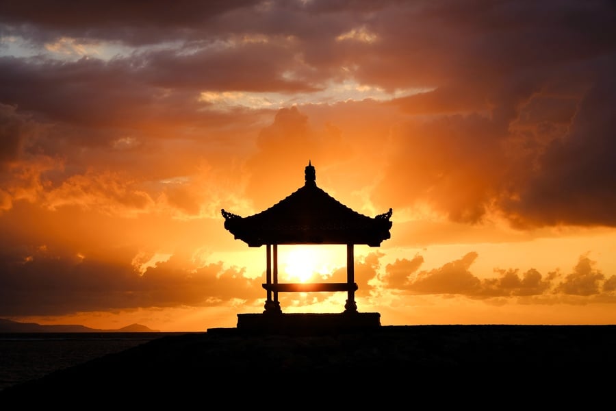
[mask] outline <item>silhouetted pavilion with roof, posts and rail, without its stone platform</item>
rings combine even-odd
[[[340,203],[316,185],[311,162],[305,168],[305,184],[274,206],[242,217],[224,209],[224,228],[248,247],[266,245],[267,292],[264,314],[281,314],[279,292],[346,292],[342,314],[357,313],[355,303],[354,245],[378,247],[390,237],[392,209],[375,217],[365,216]],[[279,283],[279,245],[346,245],[346,282]]]

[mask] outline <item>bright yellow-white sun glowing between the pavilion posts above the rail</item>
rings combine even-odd
[[[279,249],[279,267],[285,281],[310,282],[324,279],[344,262],[344,249],[325,245],[292,245]]]

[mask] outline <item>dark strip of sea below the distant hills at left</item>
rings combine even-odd
[[[187,333],[0,333],[0,391],[155,338]]]

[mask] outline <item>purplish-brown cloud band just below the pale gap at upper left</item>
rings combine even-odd
[[[253,45],[191,55],[159,51],[109,62],[4,57],[0,101],[80,127],[140,129],[165,121],[216,121],[204,112],[209,103],[198,100],[201,90],[316,90],[307,82],[283,79],[285,64],[291,64],[286,54],[275,46]]]

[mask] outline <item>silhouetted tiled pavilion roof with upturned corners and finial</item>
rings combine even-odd
[[[224,228],[249,247],[264,244],[362,244],[378,247],[390,237],[392,209],[365,216],[316,185],[315,169],[305,169],[305,184],[274,206],[251,216],[224,209]]]

